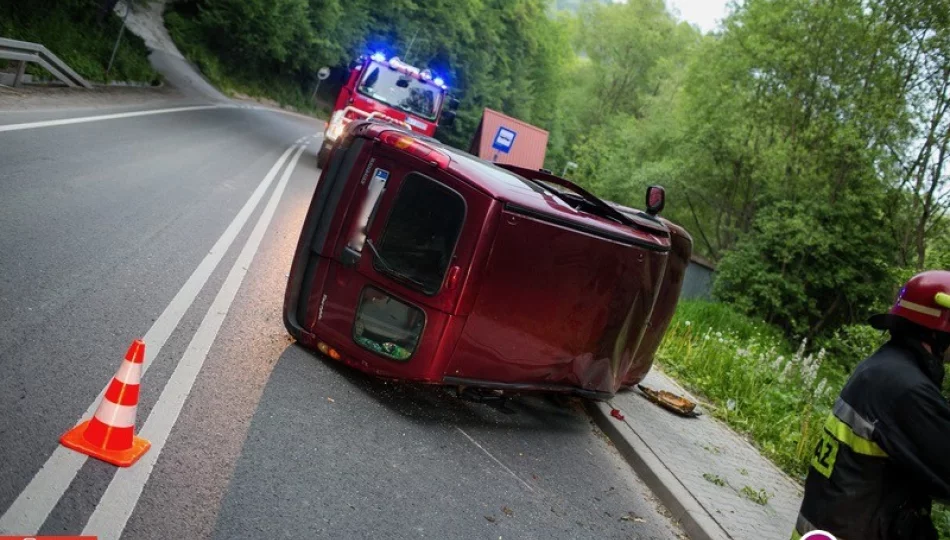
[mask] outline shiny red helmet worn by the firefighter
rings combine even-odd
[[[886,330],[894,317],[950,333],[950,272],[930,270],[910,278],[890,311],[874,315],[869,322],[874,328]]]

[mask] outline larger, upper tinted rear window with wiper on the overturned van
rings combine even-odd
[[[461,195],[421,174],[406,176],[374,267],[425,294],[439,292],[464,220]]]

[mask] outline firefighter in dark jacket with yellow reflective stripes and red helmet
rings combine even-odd
[[[950,272],[918,274],[869,323],[891,339],[841,390],[815,446],[793,539],[936,540],[932,499],[950,500]]]

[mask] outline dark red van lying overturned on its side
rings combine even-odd
[[[546,172],[354,122],[314,192],[284,319],[374,375],[603,399],[650,369],[691,246]]]

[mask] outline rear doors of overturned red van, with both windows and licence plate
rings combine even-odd
[[[376,147],[359,178],[308,327],[382,360],[381,372],[438,378],[431,359],[489,201],[446,171],[385,146]]]

